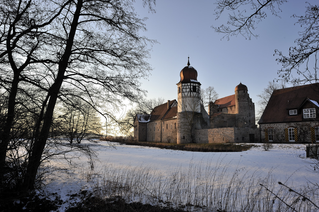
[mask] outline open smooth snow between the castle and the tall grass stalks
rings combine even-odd
[[[305,144],[273,144],[273,149],[264,151],[261,144],[243,152],[188,152],[179,150],[165,150],[152,147],[120,145],[108,142],[90,144],[97,154],[95,170],[102,170],[108,165],[112,167],[150,167],[157,172],[167,173],[172,170],[189,170],[196,166],[228,167],[227,173],[245,172],[245,176],[255,174],[267,177],[269,173],[276,181],[281,181],[294,187],[304,186],[307,183],[318,183],[318,173],[312,172],[312,159],[306,158]],[[86,163],[86,159],[81,159]],[[73,160],[73,163],[76,161]],[[217,165],[216,165],[217,164]],[[88,165],[87,165],[88,166]],[[59,180],[48,185],[48,193],[58,193],[64,205],[59,211],[64,211],[71,204],[70,195],[90,187],[88,168],[81,166],[77,171],[64,170],[58,173]],[[96,171],[97,172],[97,171]],[[54,177],[56,179],[56,177]],[[76,198],[74,201],[77,201]]]

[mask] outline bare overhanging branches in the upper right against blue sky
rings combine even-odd
[[[222,13],[231,11],[227,25],[212,26],[218,32],[225,34],[223,38],[229,40],[230,36],[238,34],[246,39],[258,37],[254,33],[256,25],[266,18],[266,11],[274,16],[279,16],[280,6],[287,0],[218,0],[215,14],[218,19]],[[282,64],[278,70],[278,76],[286,82],[305,84],[318,82],[317,53],[319,50],[319,6],[306,3],[306,11],[303,15],[292,14],[298,18],[296,24],[303,30],[295,40],[295,46],[289,48],[288,55],[278,49],[274,55],[278,55],[276,61]]]

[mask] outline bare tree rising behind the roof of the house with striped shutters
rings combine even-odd
[[[282,88],[286,88],[286,82],[285,81],[279,81],[275,82],[275,81],[269,81],[268,82],[268,86],[267,88],[263,89],[263,92],[261,94],[258,94],[257,97],[259,97],[258,100],[258,109],[257,109],[257,113],[256,113],[256,121],[258,122],[263,114],[263,111],[265,110],[268,101],[271,97],[271,94],[274,90],[277,89],[282,89]]]

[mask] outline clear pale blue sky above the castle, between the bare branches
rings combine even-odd
[[[145,22],[148,31],[142,34],[159,42],[153,46],[148,60],[154,70],[148,80],[142,80],[148,99],[177,99],[176,83],[180,80],[180,71],[187,65],[188,56],[190,65],[197,70],[201,88],[213,86],[221,98],[233,95],[241,82],[248,87],[256,108],[256,95],[267,87],[268,81],[278,78],[281,64],[275,61],[274,50],[287,55],[289,47],[294,45],[302,28],[294,25],[297,18],[291,16],[305,14],[305,1],[283,4],[281,18],[266,11],[267,17],[255,30],[259,38],[246,40],[239,35],[229,41],[221,40],[223,35],[211,28],[211,25],[226,24],[228,14],[215,20],[214,3],[210,0],[158,0],[156,13],[136,7],[140,17],[148,18]],[[136,4],[140,5],[140,1]]]

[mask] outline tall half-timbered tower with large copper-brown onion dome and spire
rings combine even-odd
[[[197,70],[187,66],[180,73],[177,83],[177,143],[191,143],[194,140],[194,129],[198,125],[200,107],[200,83],[197,81]]]

